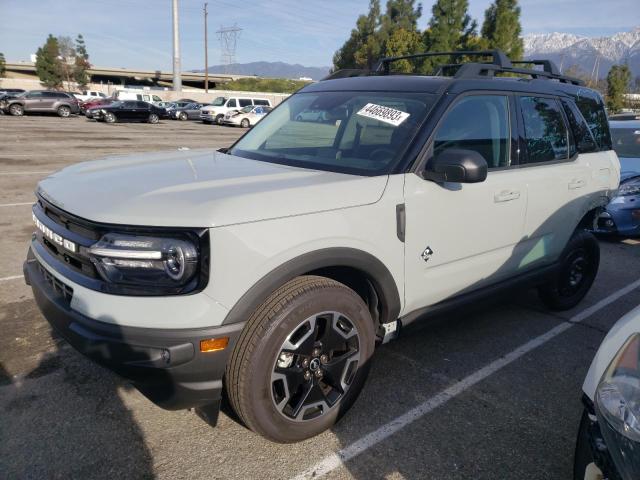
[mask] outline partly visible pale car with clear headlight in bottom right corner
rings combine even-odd
[[[609,330],[582,386],[574,480],[640,478],[640,307]]]

